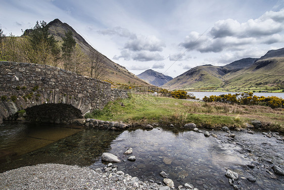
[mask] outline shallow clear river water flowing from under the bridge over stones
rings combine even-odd
[[[273,165],[283,164],[284,143],[261,132],[233,132],[236,135],[233,139],[226,137],[227,133],[223,131],[211,131],[218,138],[207,138],[203,133],[159,127],[151,131],[123,132],[50,127],[48,130],[43,126],[41,131],[40,125],[27,123],[0,125],[0,172],[39,163],[102,168],[106,163],[102,163],[101,156],[107,152],[122,160],[117,163],[118,170],[138,176],[140,180],[162,181],[159,173],[163,170],[174,181],[175,187],[191,183],[200,190],[232,189],[224,176],[226,169],[230,169],[240,175],[235,184],[243,189],[284,189],[284,177],[274,174],[271,169]],[[31,131],[37,131],[37,135]],[[21,146],[29,148],[22,151]],[[135,162],[129,162],[128,156],[123,155],[128,147],[133,148],[131,155],[136,157]],[[11,152],[13,154],[9,154]],[[3,156],[3,153],[7,155]],[[255,168],[247,166],[252,163]],[[248,177],[254,177],[256,182],[248,181]]]

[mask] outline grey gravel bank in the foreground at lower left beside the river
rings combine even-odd
[[[39,164],[0,174],[0,189],[169,189],[142,182],[122,171],[104,173],[87,167]]]

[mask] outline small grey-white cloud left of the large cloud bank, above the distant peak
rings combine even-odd
[[[159,40],[154,35],[144,36],[139,35],[134,39],[129,40],[124,49],[129,49],[131,51],[163,51],[163,48],[166,47],[165,43]]]

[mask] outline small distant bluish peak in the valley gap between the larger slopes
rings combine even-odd
[[[158,87],[173,79],[172,77],[169,77],[152,69],[145,70],[144,72],[138,74],[137,77],[139,79],[143,79],[151,85]]]

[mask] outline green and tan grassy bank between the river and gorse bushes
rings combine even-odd
[[[123,105],[121,105],[123,104]],[[85,117],[105,121],[123,121],[132,125],[159,123],[176,127],[195,123],[199,127],[246,127],[260,120],[270,130],[284,132],[284,110],[259,105],[230,105],[217,102],[193,102],[168,97],[130,94],[128,99],[109,102],[104,109]]]

